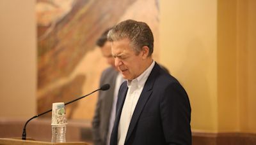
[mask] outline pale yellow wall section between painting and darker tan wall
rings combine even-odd
[[[194,130],[217,130],[217,1],[161,1],[160,59],[187,90]]]

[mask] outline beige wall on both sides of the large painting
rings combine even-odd
[[[191,127],[256,132],[256,1],[160,1],[159,60],[186,88]],[[36,113],[35,1],[0,1],[0,118]],[[12,102],[12,104],[10,104]]]

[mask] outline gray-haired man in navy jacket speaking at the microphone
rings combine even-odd
[[[110,144],[191,144],[188,95],[152,59],[148,25],[125,20],[109,31],[108,40],[115,66],[127,79],[118,93]]]

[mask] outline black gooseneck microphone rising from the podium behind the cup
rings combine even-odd
[[[104,84],[104,85],[100,86],[100,88],[98,88],[97,90],[93,91],[92,93],[97,92],[97,91],[99,91],[99,90],[105,91],[105,90],[108,90],[109,88],[110,88],[110,85],[107,83],[107,84]],[[84,98],[84,97],[86,97],[86,96],[88,96],[88,95],[91,95],[92,93],[88,93],[87,95],[84,95],[84,96],[82,96],[82,97],[79,97],[79,98],[77,98],[77,99],[75,99],[75,100],[71,100],[70,102],[65,103],[65,106],[68,105],[68,104],[70,104],[70,103],[72,103],[72,102],[75,102],[75,101],[77,101],[77,100],[80,100],[80,99],[82,99],[82,98]],[[28,121],[26,121],[26,123],[25,123],[25,125],[24,125],[24,128],[23,128],[22,140],[26,140],[26,126],[27,126],[28,122],[29,122],[30,120],[33,120],[34,118],[37,118],[37,117],[39,117],[39,116],[42,116],[43,114],[49,113],[49,112],[51,112],[51,111],[52,111],[52,109],[50,109],[50,110],[48,110],[48,111],[45,111],[44,113],[37,114],[37,115],[33,116],[32,118],[30,118]]]

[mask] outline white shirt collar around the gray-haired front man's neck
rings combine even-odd
[[[135,79],[132,79],[132,81],[127,80],[127,86],[130,88],[131,86],[138,86],[138,88],[143,87],[148,79],[148,76],[150,72],[152,71],[153,67],[155,66],[156,62],[153,60],[153,62],[150,64],[150,66],[142,73],[140,76],[138,76]]]

